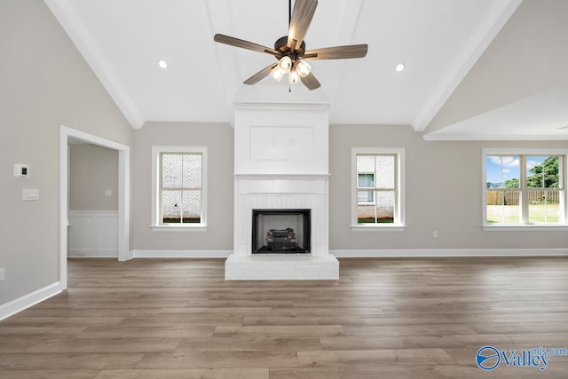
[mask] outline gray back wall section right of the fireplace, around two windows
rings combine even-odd
[[[351,232],[351,147],[406,149],[405,232]],[[410,126],[332,125],[329,249],[565,249],[565,232],[481,229],[485,147],[568,148],[568,142],[428,142]]]

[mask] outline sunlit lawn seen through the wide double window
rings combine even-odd
[[[518,224],[520,208],[518,205],[488,205],[487,224]],[[529,205],[530,224],[556,224],[560,221],[559,204]]]

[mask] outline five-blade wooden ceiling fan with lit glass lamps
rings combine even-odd
[[[294,11],[290,12],[292,0],[288,3],[288,36],[280,37],[274,43],[274,49],[251,43],[232,36],[216,34],[213,39],[218,43],[230,44],[252,51],[264,52],[273,55],[278,62],[264,67],[255,75],[250,76],[245,84],[255,84],[264,77],[272,75],[278,82],[288,74],[288,82],[295,84],[300,81],[310,90],[319,88],[318,79],[312,74],[312,67],[306,60],[309,59],[350,59],[363,58],[367,55],[367,43],[351,44],[346,46],[326,47],[315,50],[305,50],[304,36],[310,28],[313,13],[318,6],[318,0],[296,0]],[[290,14],[291,13],[291,14]]]

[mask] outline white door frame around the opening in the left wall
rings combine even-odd
[[[67,288],[69,138],[80,139],[118,152],[118,260],[130,257],[130,147],[61,125],[59,132],[59,285]]]

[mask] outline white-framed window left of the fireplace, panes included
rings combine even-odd
[[[154,146],[153,227],[192,230],[207,225],[207,148]]]

